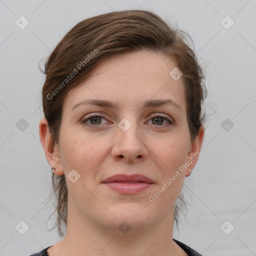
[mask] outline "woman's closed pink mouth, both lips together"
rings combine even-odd
[[[116,174],[102,181],[110,189],[122,194],[136,194],[153,185],[153,181],[144,175]]]

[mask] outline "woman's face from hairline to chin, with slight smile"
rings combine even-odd
[[[73,218],[113,229],[123,221],[142,228],[173,220],[203,137],[202,130],[190,141],[182,76],[169,75],[174,67],[169,57],[146,50],[115,55],[68,93],[56,149],[62,164],[50,164],[65,174]],[[117,174],[127,179],[103,182]],[[151,181],[131,182],[133,174]]]

